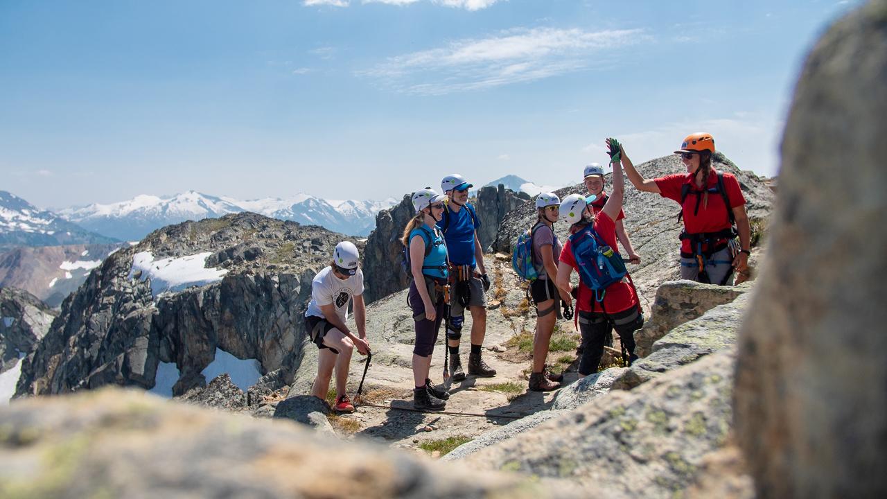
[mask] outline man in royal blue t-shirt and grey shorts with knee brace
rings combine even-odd
[[[481,358],[481,346],[487,330],[487,297],[490,278],[483,265],[483,248],[477,237],[481,221],[475,208],[468,202],[468,189],[473,187],[461,175],[447,175],[441,181],[441,190],[449,196],[443,218],[437,222],[446,240],[453,269],[451,281],[455,282],[451,293],[450,318],[447,321],[447,348],[450,351],[450,374],[453,381],[465,379],[459,359],[459,342],[465,322],[465,309],[471,312],[471,353],[468,355],[468,374],[496,376]]]

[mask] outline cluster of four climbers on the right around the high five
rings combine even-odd
[[[546,356],[556,315],[556,301],[571,314],[571,297],[576,298],[576,319],[581,336],[579,376],[598,371],[604,347],[616,330],[623,360],[631,365],[634,331],[643,325],[640,299],[624,263],[640,264],[640,255],[625,232],[622,210],[624,179],[622,170],[639,191],[659,193],[681,205],[684,229],[680,234],[680,277],[706,283],[732,285],[750,276],[750,226],[745,198],[731,173],[715,171],[711,156],[714,139],[708,133],[687,136],[679,150],[687,173],[647,180],[643,178],[616,139],[607,139],[613,167],[610,194],[604,192],[604,169],[598,163],[585,167],[583,182],[588,195],[570,194],[562,201],[555,194],[542,193],[536,199],[538,221],[515,246],[515,270],[530,275],[530,296],[537,308],[533,342],[530,390],[548,391],[560,387],[561,376],[546,368]],[[561,242],[553,234],[554,211],[569,223],[569,239]],[[622,243],[623,258],[616,246]],[[530,249],[532,272],[518,263],[518,247]],[[554,255],[558,263],[554,267]],[[570,275],[579,274],[573,287]],[[552,286],[552,281],[554,286]],[[569,317],[567,317],[569,319]]]

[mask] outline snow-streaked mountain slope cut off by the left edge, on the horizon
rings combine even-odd
[[[15,194],[0,191],[0,249],[15,245],[58,246],[108,242],[114,240],[90,233],[56,213],[39,210]]]

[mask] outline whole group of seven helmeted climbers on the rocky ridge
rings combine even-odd
[[[640,298],[624,263],[640,264],[623,219],[625,175],[639,191],[659,193],[679,202],[684,230],[680,234],[682,279],[732,285],[749,276],[750,227],[745,199],[730,173],[711,166],[714,139],[707,133],[687,137],[680,149],[687,173],[645,179],[616,139],[607,139],[612,186],[604,190],[604,168],[585,167],[587,195],[570,194],[563,200],[553,193],[539,194],[538,218],[518,239],[514,268],[530,281],[529,296],[536,306],[530,390],[550,391],[561,386],[562,375],[553,374],[546,357],[558,318],[571,319],[576,300],[576,320],[582,345],[579,376],[597,372],[604,347],[615,329],[625,364],[637,359],[635,330],[643,324]],[[496,376],[484,362],[481,349],[486,333],[486,293],[490,279],[483,264],[483,248],[477,236],[481,221],[468,200],[471,184],[460,175],[443,178],[441,192],[426,187],[412,194],[415,216],[404,227],[404,270],[411,277],[407,301],[415,321],[412,351],[413,405],[423,410],[442,410],[449,399],[450,381],[466,379],[459,355],[466,310],[471,315],[467,374]],[[569,223],[569,238],[558,240],[554,225]],[[621,243],[626,257],[622,257]],[[354,410],[345,385],[351,353],[366,354],[363,273],[357,265],[357,248],[340,242],[334,260],[311,283],[311,302],[305,313],[310,340],[318,345],[318,376],[312,394],[324,398],[335,369],[336,402],[340,412]],[[573,287],[576,271],[579,284]],[[346,322],[353,303],[357,336]],[[443,384],[430,379],[431,355],[441,324],[446,326]],[[449,379],[447,375],[449,373]]]

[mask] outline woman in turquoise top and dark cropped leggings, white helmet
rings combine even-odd
[[[412,348],[412,405],[417,409],[443,410],[450,398],[443,386],[431,383],[428,372],[435,350],[437,332],[443,320],[444,295],[449,271],[446,244],[437,229],[446,196],[426,187],[412,194],[416,216],[404,228],[401,242],[410,253],[410,293],[408,301],[416,322]]]

